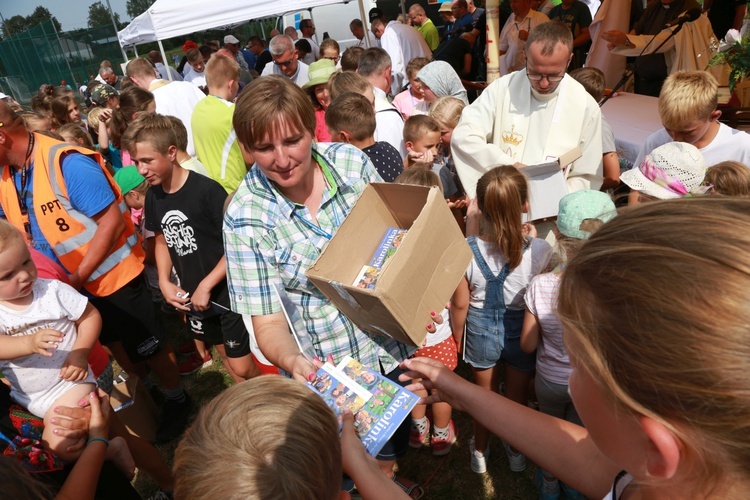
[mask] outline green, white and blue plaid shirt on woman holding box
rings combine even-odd
[[[380,182],[370,159],[348,144],[313,144],[328,184],[318,226],[304,205],[286,199],[256,166],[245,176],[224,216],[227,282],[232,310],[263,316],[281,311],[281,283],[297,305],[318,357],[338,363],[350,355],[374,370],[395,369],[405,345],[357,328],[310,283],[307,269],[346,218],[368,182]]]

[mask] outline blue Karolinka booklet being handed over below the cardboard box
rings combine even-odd
[[[349,356],[338,366],[323,365],[307,385],[337,417],[344,409],[354,414],[354,429],[372,456],[380,452],[419,402],[416,394]]]

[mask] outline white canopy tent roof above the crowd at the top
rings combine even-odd
[[[156,0],[146,12],[120,31],[118,38],[121,47],[133,47],[251,19],[350,1],[359,2],[362,19],[366,20],[363,0],[223,0],[220,3],[205,0]]]

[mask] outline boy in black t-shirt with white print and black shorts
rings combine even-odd
[[[156,267],[164,300],[188,315],[198,340],[216,345],[236,381],[259,374],[250,354],[242,316],[229,310],[222,240],[227,193],[208,177],[177,161],[174,125],[146,113],[128,127],[123,142],[151,189],[146,193],[146,229],[156,233]],[[180,286],[169,280],[174,266]]]

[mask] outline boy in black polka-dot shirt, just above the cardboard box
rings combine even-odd
[[[334,142],[346,142],[362,150],[386,182],[403,172],[398,149],[385,141],[375,141],[375,110],[361,94],[344,92],[326,110],[326,126]]]

